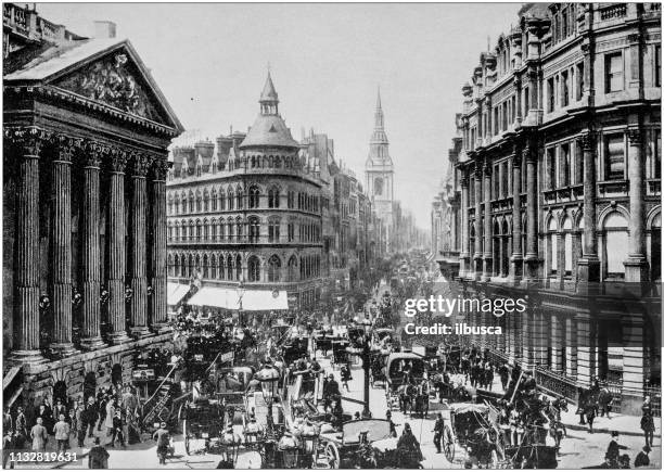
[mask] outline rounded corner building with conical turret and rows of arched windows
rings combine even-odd
[[[169,277],[183,284],[201,279],[210,303],[200,294],[200,302],[191,302],[206,306],[215,306],[218,293],[218,308],[230,308],[221,291],[242,286],[245,309],[266,291],[288,293],[290,308],[312,308],[322,289],[327,164],[314,163],[292,138],[269,74],[259,103],[246,136],[220,137],[217,152],[212,142],[175,150],[167,192]]]

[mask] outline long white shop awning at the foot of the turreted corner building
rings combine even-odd
[[[240,295],[235,289],[202,286],[189,301],[189,305],[214,306],[231,310],[240,309]],[[288,294],[283,290],[245,290],[242,295],[243,311],[269,311],[289,309]]]

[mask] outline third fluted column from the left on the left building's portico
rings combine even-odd
[[[105,346],[100,334],[101,272],[99,260],[101,258],[101,248],[99,243],[99,166],[102,155],[107,153],[108,150],[100,144],[88,142],[81,151],[84,195],[81,225],[82,328],[80,345],[86,350],[97,350]]]

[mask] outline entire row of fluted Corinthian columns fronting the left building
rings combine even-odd
[[[82,164],[81,225],[81,340],[86,350],[104,346],[101,337],[100,270],[100,175],[102,162],[108,165],[108,342],[129,341],[125,321],[126,257],[131,255],[128,285],[132,290],[129,305],[131,330],[138,336],[149,333],[148,310],[153,328],[165,326],[166,311],[166,208],[165,186],[167,163],[163,156],[148,156],[111,148],[103,143],[82,141],[30,127],[10,129],[5,139],[13,144],[18,161],[16,179],[16,258],[15,308],[16,339],[13,357],[21,361],[41,360],[39,333],[39,207],[40,163],[49,155],[52,166],[52,232],[51,283],[53,333],[51,347],[67,356],[76,352],[72,337],[72,166]],[[42,164],[43,168],[44,165]],[[130,246],[125,242],[125,180],[131,178]],[[152,220],[146,221],[149,199],[146,175],[152,171]],[[148,247],[146,227],[152,231]],[[148,254],[151,254],[153,296],[148,303]]]

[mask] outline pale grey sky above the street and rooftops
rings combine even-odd
[[[246,130],[268,63],[280,112],[334,139],[335,156],[365,181],[381,87],[396,196],[430,227],[431,201],[470,78],[487,38],[516,22],[519,3],[264,4],[38,3],[37,11],[92,36],[117,24],[151,68],[183,126],[214,139]]]

